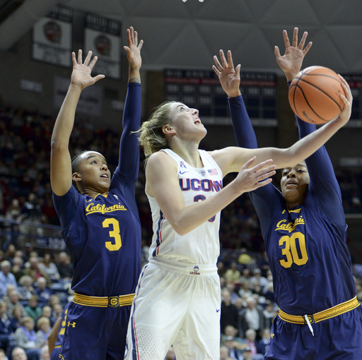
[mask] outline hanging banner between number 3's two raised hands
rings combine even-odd
[[[121,78],[121,23],[117,20],[86,14],[84,51],[98,56],[95,73],[107,78]]]

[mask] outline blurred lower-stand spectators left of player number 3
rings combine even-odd
[[[40,256],[31,244],[10,244],[0,251],[0,269],[0,348],[8,359],[18,348],[29,360],[49,359],[49,333],[73,298],[69,255]]]

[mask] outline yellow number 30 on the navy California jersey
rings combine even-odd
[[[299,251],[296,240],[298,239]],[[284,268],[290,268],[293,263],[304,265],[308,261],[307,248],[305,247],[305,236],[301,232],[294,232],[291,236],[282,236],[279,239],[279,246],[283,246],[281,253],[286,256],[286,260],[279,260]]]

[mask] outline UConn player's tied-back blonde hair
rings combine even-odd
[[[144,121],[139,131],[139,144],[144,147],[144,155],[146,161],[153,152],[158,152],[161,149],[170,148],[168,141],[163,133],[163,126],[172,123],[170,117],[171,105],[175,101],[163,102],[151,115],[148,121]]]

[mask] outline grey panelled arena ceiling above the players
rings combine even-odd
[[[230,49],[245,70],[278,71],[274,45],[282,30],[308,31],[313,47],[303,66],[362,73],[361,0],[1,0],[23,3],[0,25],[8,49],[55,4],[97,13],[130,25],[144,40],[145,70],[207,68],[218,49]],[[0,3],[1,6],[1,3]],[[11,7],[11,6],[10,6]],[[1,10],[1,8],[0,8]],[[1,14],[0,14],[1,15]]]

